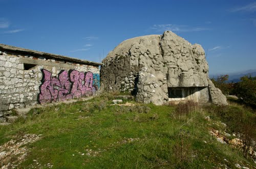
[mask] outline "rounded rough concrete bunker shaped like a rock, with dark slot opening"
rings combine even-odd
[[[171,31],[123,41],[103,60],[100,79],[101,90],[130,92],[143,103],[227,104],[209,79],[202,46]]]

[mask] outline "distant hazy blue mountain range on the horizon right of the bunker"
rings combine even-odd
[[[213,74],[213,75],[209,75],[210,78],[216,78],[220,75],[224,75],[224,74],[228,74],[228,81],[227,82],[239,82],[240,77],[243,77],[245,75],[249,76],[256,76],[256,69],[250,69],[250,70],[246,70],[246,71],[240,71],[240,72],[234,72],[234,73],[223,73],[223,74]]]

